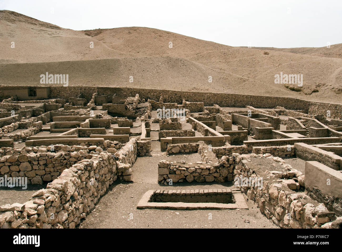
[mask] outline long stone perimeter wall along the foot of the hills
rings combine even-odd
[[[1,87],[1,90],[15,89],[15,86]],[[21,87],[25,88],[25,87]],[[158,90],[143,88],[121,88],[121,87],[61,87],[51,86],[50,96],[68,99],[76,94],[83,94],[87,99],[91,98],[93,93],[98,95],[106,95],[108,100],[114,94],[120,97],[129,97],[139,94],[141,99],[159,100],[163,96],[164,102],[182,103],[183,99],[190,102],[203,102],[205,106],[213,106],[218,104],[221,107],[262,107],[274,108],[276,106],[285,106],[286,109],[301,109],[308,111],[311,115],[326,114],[327,110],[331,112],[331,118],[342,118],[342,106],[340,104],[329,104],[315,101],[301,100],[290,97],[271,97],[271,96],[255,96],[255,95],[239,95],[239,94],[223,94],[223,93],[201,93],[201,92],[184,92],[174,90]]]

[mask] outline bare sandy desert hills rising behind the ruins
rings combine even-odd
[[[69,74],[70,86],[342,101],[341,44],[331,45],[331,51],[231,47],[146,27],[74,31],[5,10],[0,11],[0,45],[1,85],[44,85],[39,76],[49,72]],[[291,90],[297,84],[275,84],[274,75],[280,72],[303,74],[300,91]]]

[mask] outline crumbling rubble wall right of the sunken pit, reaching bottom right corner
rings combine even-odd
[[[234,159],[236,163],[234,178],[240,175],[246,178],[260,177],[249,168],[248,160],[236,154],[234,154]],[[289,175],[299,180],[299,177],[303,176],[301,172],[293,170],[286,175],[278,173],[269,174],[267,179],[263,177],[262,188],[257,185],[254,187],[244,185],[238,188],[258,205],[261,213],[282,228],[337,228],[340,226],[342,218],[337,218],[334,213],[329,212],[324,204],[313,201],[306,193],[295,192],[289,188],[290,183],[287,182],[293,181]],[[283,178],[283,182],[279,182],[277,176]]]

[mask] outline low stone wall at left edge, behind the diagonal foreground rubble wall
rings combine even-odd
[[[52,146],[39,148],[1,148],[1,177],[27,177],[28,183],[42,184],[42,181],[52,181],[57,178],[64,169],[87,158],[88,154],[95,152],[99,154],[103,152],[103,149],[118,149],[120,146],[118,142],[106,141],[101,146],[89,147],[52,144]]]

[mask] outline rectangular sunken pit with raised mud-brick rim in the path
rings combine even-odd
[[[138,209],[248,209],[244,195],[230,189],[149,190]]]

